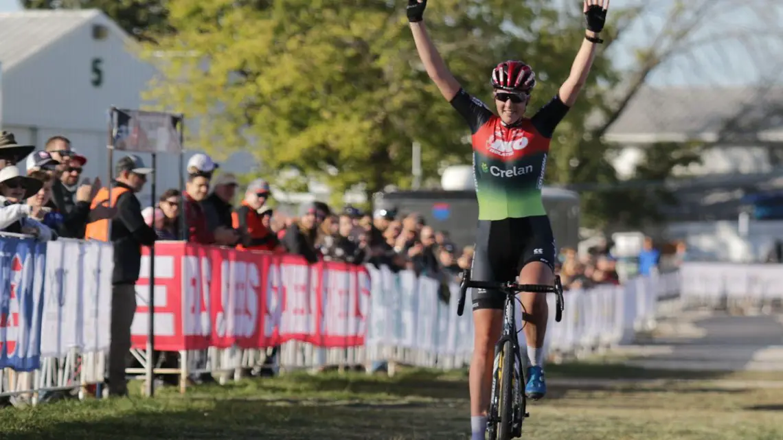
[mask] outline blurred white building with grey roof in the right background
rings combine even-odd
[[[754,261],[783,238],[783,221],[744,217],[744,197],[783,189],[783,88],[649,88],[635,96],[604,139],[622,177],[656,142],[705,142],[702,164],[674,170],[679,200],[666,233],[713,258]]]

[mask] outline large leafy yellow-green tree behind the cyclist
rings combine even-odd
[[[583,38],[579,5],[562,13],[550,3],[438,0],[428,5],[428,27],[456,78],[480,98],[491,96],[496,63],[532,63],[537,108],[568,76]],[[410,187],[414,141],[425,180],[470,160],[467,127],[421,67],[404,2],[171,0],[169,10],[177,35],[155,49],[172,56],[148,98],[202,121],[190,134],[199,145],[251,150],[269,179],[295,168],[338,192],[359,183],[368,193]],[[599,54],[587,88],[615,80]],[[600,94],[585,93],[572,109],[553,142],[558,163],[580,151],[586,117],[601,105]],[[564,168],[553,172],[556,182],[571,179]]]

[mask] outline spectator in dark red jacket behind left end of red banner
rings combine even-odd
[[[201,202],[207,198],[209,176],[203,173],[188,175],[185,185],[185,218],[188,224],[188,241],[201,244],[234,246],[239,235],[233,229],[215,229],[207,226],[207,217]]]

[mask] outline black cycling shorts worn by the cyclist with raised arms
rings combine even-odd
[[[549,217],[479,220],[471,280],[516,281],[519,272],[532,261],[540,261],[554,272],[557,249]],[[473,309],[502,309],[506,297],[496,290],[474,289]]]

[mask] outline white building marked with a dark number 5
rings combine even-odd
[[[39,149],[51,136],[67,137],[88,157],[84,176],[106,182],[107,112],[110,106],[143,108],[142,92],[155,74],[136,55],[139,49],[97,9],[0,13],[0,127]],[[186,160],[199,151],[189,150]],[[116,152],[115,160],[123,155]],[[253,166],[247,154],[222,163],[239,173]],[[176,157],[159,155],[157,168],[166,171],[157,173],[158,194],[179,186]],[[144,204],[149,192],[147,184],[139,194]]]

